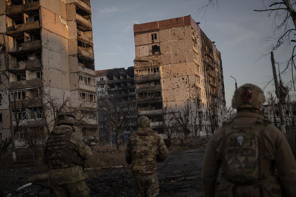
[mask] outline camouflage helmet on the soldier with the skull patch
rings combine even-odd
[[[244,84],[234,92],[232,107],[260,109],[264,102],[264,93],[259,87]]]

